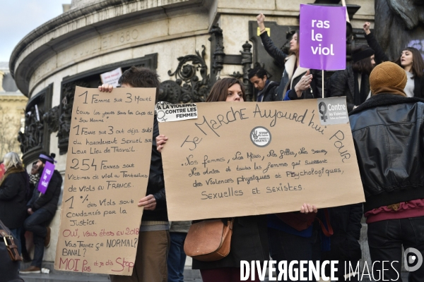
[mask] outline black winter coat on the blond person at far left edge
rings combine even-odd
[[[9,168],[11,169],[11,168]],[[16,168],[15,168],[16,169]],[[7,174],[0,185],[0,220],[9,229],[20,228],[27,214],[28,174],[23,169]]]

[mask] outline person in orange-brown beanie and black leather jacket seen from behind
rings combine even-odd
[[[396,63],[379,64],[370,75],[372,97],[349,118],[372,269],[385,281],[401,281],[402,246],[408,281],[424,281],[424,100],[406,97],[406,81]]]

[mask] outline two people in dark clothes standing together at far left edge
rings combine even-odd
[[[33,163],[30,175],[16,152],[7,153],[3,159],[6,171],[0,180],[0,221],[13,234],[23,261],[31,262],[28,268],[19,271],[20,274],[41,273],[45,247],[49,247],[48,225],[56,214],[63,180],[59,171],[54,170],[45,192],[40,192],[38,184],[46,162],[53,164],[54,157],[55,154],[40,154],[39,159]],[[33,259],[26,247],[26,231],[33,233]],[[2,269],[2,266],[6,268]],[[0,263],[0,273],[11,273],[13,270],[18,276],[19,268],[19,262],[12,268],[3,261]]]

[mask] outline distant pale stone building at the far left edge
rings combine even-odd
[[[8,62],[0,62],[0,159],[7,152],[20,153],[18,131],[23,129],[27,102],[16,87]]]

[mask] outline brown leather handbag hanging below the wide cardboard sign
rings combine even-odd
[[[184,252],[202,262],[215,262],[230,253],[232,225],[228,219],[225,225],[220,219],[192,224],[184,242]]]

